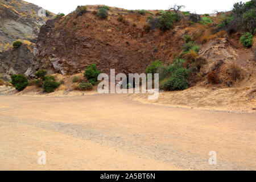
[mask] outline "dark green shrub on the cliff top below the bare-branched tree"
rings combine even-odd
[[[174,22],[180,20],[180,16],[176,13],[168,12],[162,15],[159,20],[158,28],[160,30],[170,30],[174,25]]]

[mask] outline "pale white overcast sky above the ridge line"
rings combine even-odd
[[[212,13],[213,10],[229,11],[236,2],[247,2],[243,0],[25,0],[26,2],[34,3],[52,13],[69,14],[76,9],[78,5],[107,5],[121,7],[128,10],[166,10],[168,7],[175,5],[185,5],[184,11],[196,12],[198,14]]]

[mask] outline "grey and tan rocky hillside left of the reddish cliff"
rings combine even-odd
[[[32,3],[0,0],[0,73],[5,80],[10,80],[10,74],[26,72],[40,27],[54,15],[44,12]],[[23,43],[19,49],[13,48],[16,40]]]

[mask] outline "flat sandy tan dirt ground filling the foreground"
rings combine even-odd
[[[122,95],[0,96],[0,170],[256,169],[256,113]],[[45,151],[47,164],[38,164]],[[217,152],[210,166],[208,153]]]

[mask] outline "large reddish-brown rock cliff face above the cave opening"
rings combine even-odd
[[[109,73],[110,68],[118,73],[141,73],[153,60],[168,62],[171,52],[183,43],[172,38],[173,32],[155,29],[146,34],[143,27],[150,14],[129,13],[112,7],[108,18],[101,19],[94,10],[97,7],[87,6],[82,16],[73,12],[48,20],[40,30],[34,61],[42,68],[63,74],[82,72],[93,63],[105,73]],[[117,20],[120,14],[126,23]]]

